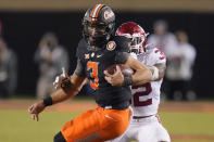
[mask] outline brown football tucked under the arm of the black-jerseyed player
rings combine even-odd
[[[116,65],[119,66],[121,70],[122,70],[122,74],[123,74],[124,76],[130,76],[130,75],[133,75],[133,74],[135,73],[133,68],[127,67],[127,66],[125,66],[124,64],[114,64],[114,65],[111,65],[110,67],[106,68],[106,70],[108,70],[108,73],[109,73],[110,75],[113,75],[113,74],[115,73],[115,70],[116,70]]]

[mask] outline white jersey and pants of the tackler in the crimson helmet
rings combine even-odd
[[[141,63],[153,66],[166,62],[165,55],[159,49],[149,48],[146,53],[137,56]],[[144,118],[133,117],[124,134],[108,142],[171,142],[167,130],[162,126],[156,115],[161,83],[162,80],[159,80],[133,87],[131,108],[134,116],[144,116]]]

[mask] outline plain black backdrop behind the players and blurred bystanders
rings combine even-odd
[[[18,57],[18,94],[36,92],[38,66],[34,53],[46,31],[58,35],[60,43],[70,52],[72,74],[76,66],[75,51],[81,38],[83,12],[0,12],[3,37]],[[115,12],[116,27],[124,22],[139,23],[146,31],[153,31],[153,23],[163,18],[168,22],[169,31],[184,29],[190,43],[197,49],[197,61],[192,87],[200,98],[213,96],[214,13],[193,12]]]

